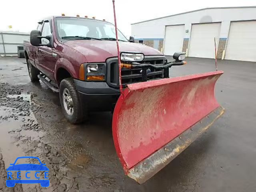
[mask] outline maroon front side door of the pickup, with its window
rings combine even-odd
[[[45,20],[42,36],[48,36],[52,34],[51,21]],[[49,40],[42,38],[42,44],[48,44]],[[54,48],[47,46],[38,47],[38,69],[43,72],[50,80],[54,81],[54,68],[57,58],[53,57]]]

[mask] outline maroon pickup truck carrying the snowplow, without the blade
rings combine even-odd
[[[118,40],[124,63],[167,62],[158,50],[134,43],[132,37],[127,40],[120,31]],[[120,95],[113,24],[80,17],[45,18],[31,31],[30,42],[24,42],[24,53],[31,81],[40,79],[59,92],[64,116],[71,123],[82,122],[89,111],[113,110]],[[123,86],[169,77],[168,68],[149,66],[146,78],[142,71],[122,68]]]

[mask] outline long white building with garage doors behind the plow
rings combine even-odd
[[[190,57],[256,62],[256,6],[204,8],[132,24],[136,42]]]

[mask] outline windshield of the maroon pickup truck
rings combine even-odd
[[[56,18],[57,34],[62,37],[88,37],[102,40],[115,40],[115,26],[111,23],[84,18]],[[78,38],[78,37],[77,37]],[[67,38],[65,38],[67,39]],[[81,39],[81,38],[79,38]],[[84,38],[85,39],[85,38]],[[118,40],[127,41],[118,30]]]

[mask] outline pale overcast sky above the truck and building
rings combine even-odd
[[[112,0],[1,0],[0,30],[29,32],[46,16],[88,15],[112,22]],[[256,0],[116,0],[118,28],[131,34],[131,23],[207,7],[256,6]]]

